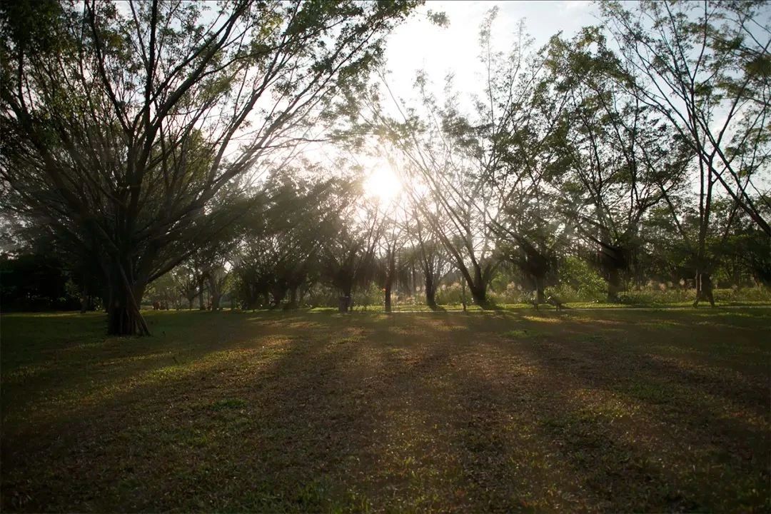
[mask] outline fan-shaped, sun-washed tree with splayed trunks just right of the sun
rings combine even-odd
[[[491,9],[480,27],[483,88],[466,115],[451,83],[442,105],[428,92],[426,78],[417,85],[422,117],[402,109],[402,127],[390,129],[405,153],[414,178],[428,194],[413,195],[423,218],[445,245],[477,304],[487,304],[487,287],[500,264],[500,248],[520,247],[534,286],[543,297],[546,254],[518,229],[527,206],[540,205],[543,179],[554,151],[548,147],[565,105],[544,77],[544,50],[530,51],[520,24],[510,52],[493,49]],[[532,219],[532,218],[531,218]],[[530,234],[531,236],[534,233]],[[544,247],[542,252],[546,252]],[[520,262],[520,260],[517,260]],[[537,277],[532,275],[536,273]]]

